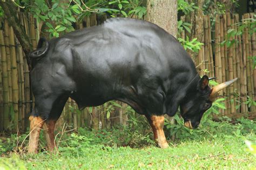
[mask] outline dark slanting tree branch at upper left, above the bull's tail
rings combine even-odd
[[[18,38],[19,43],[21,43],[22,49],[25,53],[26,60],[29,65],[29,70],[31,69],[29,52],[32,50],[32,45],[30,43],[28,35],[24,31],[23,26],[19,24],[19,20],[17,18],[16,6],[12,2],[2,2],[0,1],[0,6],[4,11],[4,15],[8,17],[7,21],[10,26],[14,29],[15,36]]]

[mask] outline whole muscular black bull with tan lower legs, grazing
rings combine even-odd
[[[129,104],[145,114],[157,144],[165,148],[169,145],[163,131],[164,114],[173,116],[180,107],[185,126],[195,128],[218,91],[234,81],[210,89],[208,77],[199,77],[192,59],[173,36],[136,19],[109,19],[50,42],[41,39],[30,57],[35,96],[30,153],[37,152],[44,123],[48,147],[54,148],[55,123],[69,97],[79,108],[109,100]]]

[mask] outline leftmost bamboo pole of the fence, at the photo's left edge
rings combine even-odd
[[[0,44],[1,44],[1,62],[2,62],[2,82],[3,82],[3,114],[1,116],[1,130],[6,130],[9,125],[9,88],[8,88],[8,71],[6,61],[6,50],[3,30],[0,30]]]

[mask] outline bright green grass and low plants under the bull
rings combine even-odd
[[[255,142],[254,129],[246,130],[255,122],[243,121],[237,125],[220,123],[214,134],[212,127],[207,127],[205,134],[198,131],[199,138],[178,139],[167,149],[154,146],[147,131],[140,134],[131,127],[111,132],[80,129],[78,134],[64,137],[72,140],[62,142],[59,153],[8,153],[0,158],[0,169],[256,169],[256,157],[244,142]],[[208,124],[215,127],[215,123]]]

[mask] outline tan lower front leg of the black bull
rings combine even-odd
[[[165,134],[164,134],[164,116],[163,115],[146,115],[147,120],[149,120],[150,126],[152,127],[154,133],[154,140],[160,148],[169,147]]]

